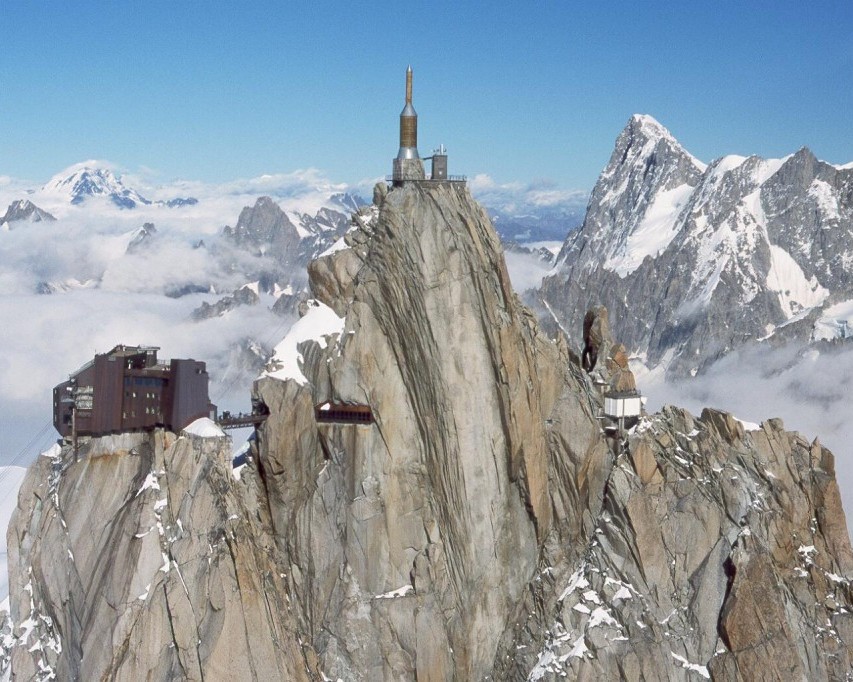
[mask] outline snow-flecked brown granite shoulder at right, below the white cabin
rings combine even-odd
[[[667,408],[630,434],[604,500],[579,561],[550,546],[497,677],[849,679],[853,563],[819,443]]]

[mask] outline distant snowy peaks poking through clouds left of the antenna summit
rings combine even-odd
[[[35,291],[39,293],[98,288],[108,277],[109,270],[120,267],[119,262],[123,259],[156,258],[161,262],[174,259],[181,251],[180,245],[175,243],[175,233],[183,231],[175,229],[176,221],[178,225],[182,224],[183,214],[163,213],[163,210],[199,204],[199,200],[193,197],[152,201],[141,191],[126,185],[109,167],[94,162],[66,169],[40,189],[30,191],[29,195],[48,202],[61,216],[55,228],[57,234],[68,229],[68,220],[79,220],[80,217],[91,225],[92,231],[105,224],[111,232],[113,228],[108,226],[118,217],[116,208],[126,216],[124,222],[131,221],[132,224],[135,214],[140,216],[140,222],[145,221],[140,227],[119,236],[123,244],[114,253],[112,262],[103,264],[101,272],[87,269],[85,273],[63,273],[55,280],[38,282]],[[365,203],[356,194],[322,187],[303,188],[301,197],[294,201],[294,197],[289,196],[290,210],[285,211],[276,199],[261,196],[254,205],[242,208],[234,228],[224,224],[233,214],[221,215],[220,225],[224,226],[220,227],[218,234],[208,235],[206,240],[193,241],[193,248],[201,247],[199,253],[205,254],[203,260],[206,264],[203,267],[182,268],[170,273],[169,279],[177,280],[177,283],[167,284],[152,275],[147,287],[173,298],[198,292],[220,292],[230,296],[228,292],[240,290],[247,283],[258,282],[261,282],[261,289],[269,294],[293,290],[294,287],[298,290],[305,279],[308,262],[349,229],[351,214]],[[238,196],[232,198],[229,205],[236,207],[237,202],[249,199]],[[209,197],[208,203],[213,204],[216,200],[215,196]],[[301,206],[305,210],[301,210]],[[69,207],[75,207],[76,213],[68,213]],[[219,210],[221,208],[217,206],[208,208],[208,219],[217,219]],[[171,229],[158,229],[154,220],[160,219],[171,225]],[[9,205],[0,226],[12,229],[22,222],[41,221],[56,222],[56,218],[30,199],[19,199]],[[73,223],[74,220],[69,224]],[[110,285],[106,283],[104,286]]]

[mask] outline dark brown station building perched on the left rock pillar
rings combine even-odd
[[[200,417],[216,418],[207,369],[198,360],[157,361],[159,348],[116,346],[96,355],[53,389],[53,425],[63,437],[180,431]]]

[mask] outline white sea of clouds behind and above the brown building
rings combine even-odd
[[[36,438],[52,418],[53,386],[117,344],[154,345],[162,358],[204,360],[211,397],[220,408],[247,409],[257,370],[249,366],[244,349],[249,340],[271,348],[294,318],[274,315],[269,297],[221,317],[192,319],[202,302],[213,303],[248,283],[247,273],[257,268],[248,255],[218,257],[218,235],[225,224],[236,224],[242,208],[258,196],[272,195],[293,213],[316,212],[331,194],[345,189],[315,171],[228,185],[149,187],[140,182],[134,187],[152,201],[193,196],[199,202],[122,210],[94,199],[72,206],[67,197],[31,190],[28,183],[0,182],[0,211],[13,200],[29,198],[57,218],[15,223],[0,232],[0,464],[26,465],[55,440],[52,429]],[[154,223],[156,235],[128,253],[146,222]],[[45,284],[55,292],[38,293]],[[190,284],[209,284],[215,291],[166,295]]]

